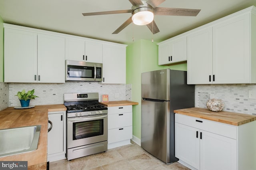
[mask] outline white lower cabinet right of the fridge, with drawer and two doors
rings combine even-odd
[[[192,170],[255,170],[255,128],[175,114],[175,156]]]

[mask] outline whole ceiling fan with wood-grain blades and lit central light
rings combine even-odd
[[[103,12],[89,12],[82,13],[84,16],[93,15],[105,15],[105,14],[122,14],[131,13],[132,16],[128,18],[118,29],[112,34],[118,34],[126,26],[132,22],[136,25],[147,25],[153,34],[159,31],[154,21],[154,15],[166,15],[166,16],[197,16],[200,10],[185,9],[185,8],[164,8],[157,7],[165,0],[129,0],[132,3],[132,9],[129,10],[114,10]]]

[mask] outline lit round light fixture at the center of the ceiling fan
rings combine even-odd
[[[132,12],[132,22],[139,26],[144,26],[154,20],[152,8],[141,7]]]

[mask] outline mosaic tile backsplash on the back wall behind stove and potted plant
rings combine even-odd
[[[108,95],[109,101],[131,100],[131,85],[129,84],[102,84],[99,82],[66,82],[66,83],[8,83],[9,107],[20,106],[18,91],[35,89],[34,95],[38,97],[30,101],[30,105],[63,104],[64,93],[99,93]]]

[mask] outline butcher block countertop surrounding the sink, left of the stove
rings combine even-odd
[[[28,161],[28,170],[46,170],[48,112],[66,111],[64,105],[40,105],[29,109],[9,107],[0,111],[0,129],[41,125],[38,148],[32,152],[5,156],[0,161]]]

